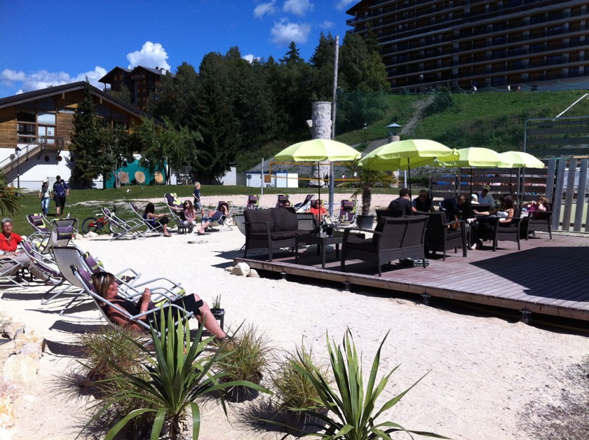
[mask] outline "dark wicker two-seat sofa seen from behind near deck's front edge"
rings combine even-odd
[[[381,217],[374,231],[346,228],[341,246],[341,271],[346,271],[346,260],[376,263],[379,277],[382,266],[393,259],[421,258],[426,268],[424,238],[428,216],[416,215],[400,218]],[[351,231],[372,233],[372,238],[351,236]]]

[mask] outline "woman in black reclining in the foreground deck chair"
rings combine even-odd
[[[144,327],[135,324],[135,322],[131,321],[121,312],[121,310],[126,310],[133,316],[147,312],[147,310],[154,307],[154,303],[151,303],[151,290],[146,287],[140,300],[137,301],[137,303],[133,303],[133,301],[129,301],[128,299],[119,296],[119,284],[111,273],[94,273],[92,275],[92,284],[94,285],[97,294],[110,303],[116,304],[116,307],[107,305],[107,303],[102,304],[104,312],[106,312],[112,322],[137,331],[144,331]],[[205,329],[207,329],[212,335],[217,336],[217,338],[227,337],[227,334],[221,329],[221,326],[219,326],[217,319],[212,316],[212,312],[207,303],[203,302],[197,294],[187,294],[171,301],[171,303],[184,308],[188,312],[193,312],[196,319],[198,319],[198,322],[204,321]],[[151,315],[143,316],[139,319],[147,324],[154,322],[157,326],[160,320],[159,314],[160,312],[156,311]]]

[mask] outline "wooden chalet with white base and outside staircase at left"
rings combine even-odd
[[[69,143],[80,81],[0,99],[0,172],[14,186],[38,188],[44,178],[69,179]],[[140,125],[147,116],[130,104],[90,86],[97,116],[111,124]]]

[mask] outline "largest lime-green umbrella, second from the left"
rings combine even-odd
[[[364,156],[359,163],[370,170],[409,170],[409,191],[411,191],[411,167],[430,165],[440,156],[458,158],[455,151],[430,139],[407,139],[379,146]]]

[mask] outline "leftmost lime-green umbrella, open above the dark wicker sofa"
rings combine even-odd
[[[278,162],[346,162],[359,159],[359,151],[331,139],[313,139],[299,142],[280,151],[274,160]],[[321,198],[321,186],[319,186]]]

